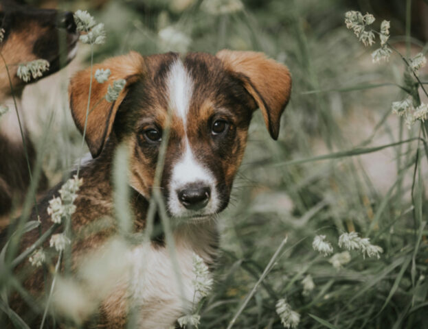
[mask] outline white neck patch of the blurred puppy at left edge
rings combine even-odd
[[[8,112],[0,117],[0,134],[10,143],[16,146],[22,146],[21,128],[23,130],[23,133],[25,134],[25,118],[21,108],[21,98],[15,97],[15,101],[16,108],[12,96],[3,99],[0,102],[0,105],[7,106],[9,108]],[[19,119],[16,115],[16,112],[19,115]],[[19,126],[19,121],[21,121],[21,128]]]

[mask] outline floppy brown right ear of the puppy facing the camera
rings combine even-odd
[[[286,66],[255,51],[221,50],[216,54],[225,68],[238,77],[262,111],[273,139],[280,133],[280,119],[291,93],[291,76]],[[254,109],[256,110],[256,109]]]

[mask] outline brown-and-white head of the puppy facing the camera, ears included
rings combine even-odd
[[[161,189],[170,215],[205,217],[223,210],[243,158],[251,115],[257,108],[272,138],[289,101],[291,77],[262,53],[223,50],[212,56],[177,53],[111,58],[108,82],[92,81],[86,141],[93,157],[109,136],[131,154],[131,185],[149,197],[163,132],[169,128]],[[84,129],[91,69],[74,76],[70,103]],[[102,99],[117,79],[127,84],[114,103]],[[106,150],[107,151],[107,150]]]

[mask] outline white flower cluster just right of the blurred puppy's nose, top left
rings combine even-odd
[[[93,16],[86,10],[78,10],[74,13],[74,21],[78,32],[84,32],[79,40],[90,45],[101,45],[106,41],[106,32],[103,23],[96,23]]]

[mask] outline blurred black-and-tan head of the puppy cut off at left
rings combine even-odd
[[[1,0],[0,28],[4,30],[0,51],[16,88],[24,84],[16,77],[17,64],[40,58],[47,60],[49,71],[43,73],[47,76],[76,56],[78,34],[71,12],[37,9],[15,1]],[[5,74],[3,60],[0,60],[1,88],[7,90],[9,86]]]

